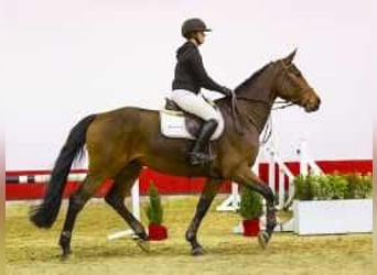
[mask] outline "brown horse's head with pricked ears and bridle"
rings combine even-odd
[[[276,75],[273,89],[278,97],[303,107],[306,112],[313,112],[320,108],[321,99],[292,63],[295,52],[297,50],[277,62],[279,73]]]

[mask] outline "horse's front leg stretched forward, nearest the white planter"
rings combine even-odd
[[[265,184],[248,166],[238,169],[234,175],[233,180],[245,187],[251,188],[266,199],[266,231],[259,234],[259,243],[262,248],[266,248],[267,243],[272,237],[273,229],[277,226],[274,195],[271,188]]]

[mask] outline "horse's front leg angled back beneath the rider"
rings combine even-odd
[[[208,178],[205,183],[204,190],[202,191],[200,201],[196,206],[195,216],[192,219],[188,229],[186,231],[186,240],[191,243],[192,246],[192,255],[202,255],[204,254],[204,250],[201,244],[198,244],[196,240],[197,230],[201,226],[201,222],[203,220],[203,217],[208,211],[212,201],[214,200],[218,188],[222,184],[222,180]]]

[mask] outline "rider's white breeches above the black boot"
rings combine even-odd
[[[212,107],[201,94],[195,95],[190,90],[173,90],[171,99],[183,110],[193,113],[205,121],[211,119],[219,122],[218,113],[215,108]]]

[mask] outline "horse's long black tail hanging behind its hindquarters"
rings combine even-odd
[[[31,209],[30,220],[39,228],[51,228],[62,205],[63,191],[74,160],[83,154],[86,131],[95,114],[80,120],[72,130],[55,162],[43,202]]]

